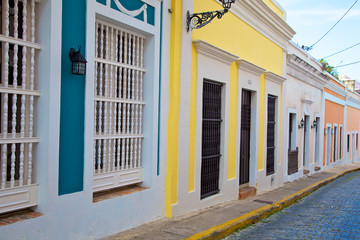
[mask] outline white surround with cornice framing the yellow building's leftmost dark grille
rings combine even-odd
[[[238,59],[238,56],[226,52],[203,40],[193,40],[197,51],[197,100],[196,100],[196,144],[195,144],[195,192],[192,196],[194,203],[199,204],[199,208],[221,203],[229,199],[232,195],[234,186],[238,184],[238,179],[227,179],[227,149],[229,135],[229,85],[230,85],[230,65]],[[202,146],[202,96],[203,81],[208,79],[214,82],[222,83],[222,119],[221,128],[221,146],[220,151],[220,174],[219,190],[220,192],[211,197],[200,200],[201,188],[201,146]],[[236,185],[235,185],[236,184]],[[228,195],[229,194],[229,195]]]

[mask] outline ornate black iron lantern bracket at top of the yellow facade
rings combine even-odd
[[[187,12],[186,20],[186,30],[189,31],[190,28],[198,29],[202,28],[206,24],[210,23],[215,17],[218,19],[222,18],[225,13],[231,8],[231,4],[235,3],[235,0],[220,0],[223,5],[224,10],[217,10],[212,12],[202,12],[202,13],[193,13]]]

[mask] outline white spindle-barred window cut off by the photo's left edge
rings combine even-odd
[[[2,0],[0,11],[0,200],[6,203],[1,213],[36,205],[30,185],[39,141],[34,112],[40,96],[35,76],[40,45],[35,42],[35,0]],[[14,187],[27,187],[30,201],[13,196],[9,191]]]

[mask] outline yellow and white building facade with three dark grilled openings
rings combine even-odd
[[[178,124],[168,134],[168,217],[237,199],[239,186],[281,186],[283,83],[294,34],[282,10],[264,1],[236,1],[221,20],[187,32],[176,25],[187,12],[222,5],[176,2],[170,81],[179,88],[169,121],[176,115]]]

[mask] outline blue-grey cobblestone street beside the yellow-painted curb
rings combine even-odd
[[[360,172],[348,174],[226,239],[360,239],[359,186]]]

